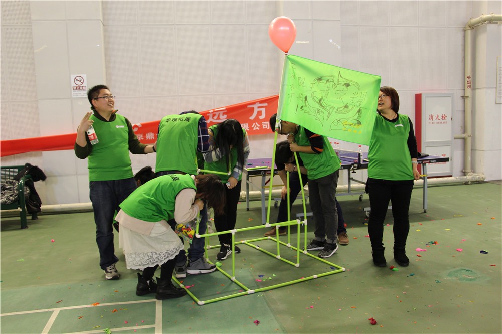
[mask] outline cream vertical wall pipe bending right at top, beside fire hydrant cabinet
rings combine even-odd
[[[473,172],[471,168],[471,149],[472,149],[472,42],[471,33],[476,27],[486,23],[500,23],[501,14],[481,15],[475,19],[470,19],[465,25],[465,77],[464,77],[464,95],[462,98],[465,103],[465,133],[454,136],[455,139],[464,139],[464,169],[465,175]]]

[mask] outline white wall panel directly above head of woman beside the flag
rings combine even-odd
[[[360,71],[380,75],[382,81],[389,80],[389,28],[361,27],[360,33]]]

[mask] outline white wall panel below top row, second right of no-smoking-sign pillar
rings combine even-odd
[[[176,49],[173,26],[140,27],[142,93],[177,94]]]

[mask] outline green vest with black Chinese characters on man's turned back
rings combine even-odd
[[[159,123],[155,172],[197,174],[198,114],[167,115]]]

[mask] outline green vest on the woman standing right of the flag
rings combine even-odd
[[[382,180],[413,180],[408,149],[410,120],[398,114],[396,123],[376,116],[369,142],[368,177]]]

